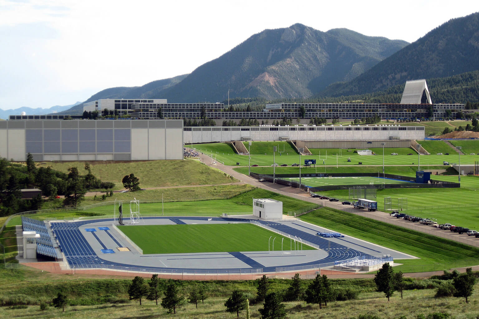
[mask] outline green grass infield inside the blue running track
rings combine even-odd
[[[290,239],[253,224],[118,226],[143,253],[213,253],[268,251],[270,236],[275,251],[290,249]],[[287,243],[287,245],[286,245]],[[273,250],[270,241],[270,250]],[[287,247],[286,247],[287,246]],[[314,249],[303,245],[303,249]]]

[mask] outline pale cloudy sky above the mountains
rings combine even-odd
[[[265,29],[302,23],[414,42],[476,11],[477,0],[0,0],[0,109],[191,73]]]

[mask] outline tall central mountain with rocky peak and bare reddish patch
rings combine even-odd
[[[303,24],[264,30],[196,68],[162,92],[171,102],[217,102],[228,97],[311,96],[350,80],[408,43],[347,29],[321,32]]]

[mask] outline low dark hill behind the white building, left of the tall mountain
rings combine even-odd
[[[117,87],[106,88],[96,94],[93,94],[86,101],[74,107],[59,112],[57,114],[79,115],[83,113],[83,103],[95,101],[97,99],[162,99],[161,92],[172,85],[182,81],[187,75],[156,80],[147,83],[141,87]]]

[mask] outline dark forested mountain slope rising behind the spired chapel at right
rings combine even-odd
[[[363,94],[418,78],[449,77],[479,70],[479,12],[445,22],[419,40],[322,96]]]

